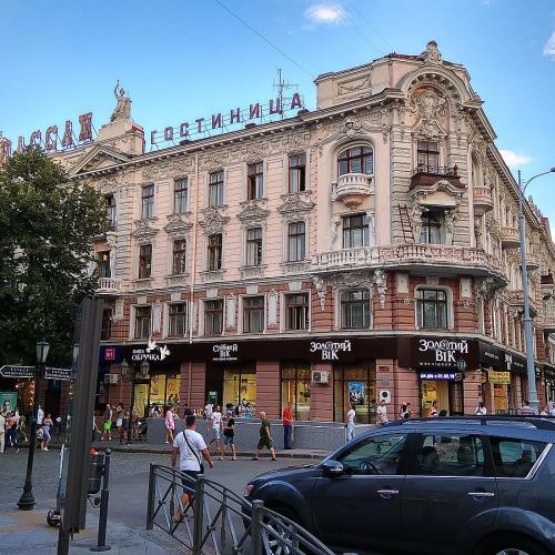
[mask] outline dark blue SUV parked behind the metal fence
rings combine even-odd
[[[404,420],[245,488],[340,552],[555,554],[555,418]]]

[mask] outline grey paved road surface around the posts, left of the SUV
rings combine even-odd
[[[239,461],[215,462],[215,467],[208,471],[206,476],[225,485],[236,494],[242,495],[245,484],[250,478],[262,472],[290,466],[291,464],[311,464],[310,460],[279,460],[272,462],[269,458],[250,461],[240,458]],[[147,492],[150,463],[170,464],[168,455],[139,454],[139,453],[113,453],[110,472],[110,508],[109,521],[113,534],[124,535],[129,531],[144,529],[147,514]],[[37,507],[31,514],[22,515],[23,512],[17,509],[17,501],[22,492],[24,471],[27,464],[27,450],[20,453],[0,454],[1,486],[0,486],[0,553],[53,553],[49,549],[37,552],[42,537],[53,537],[52,529],[46,526],[46,512],[54,506],[56,490],[58,485],[59,452],[50,451],[37,452],[34,457],[33,493]],[[91,514],[90,523],[94,523],[98,512],[89,509]],[[24,526],[21,527],[21,518],[24,517]],[[18,524],[19,523],[19,524]],[[19,527],[18,527],[19,526]],[[27,532],[26,532],[27,531]],[[29,533],[34,537],[31,541]],[[128,532],[125,532],[128,531]],[[142,533],[141,533],[142,534]],[[151,534],[151,533],[149,533]],[[29,537],[28,537],[29,536]],[[92,537],[92,531],[89,534]],[[84,537],[84,535],[82,536]],[[151,536],[149,536],[151,537]],[[21,544],[13,544],[13,541],[27,541],[27,551]],[[79,538],[75,545],[79,545]],[[167,542],[161,533],[153,534],[152,539],[163,549],[160,553],[171,553],[172,544]],[[52,541],[52,539],[50,539]],[[110,541],[110,531],[109,531]],[[46,539],[44,539],[46,542]],[[82,542],[81,542],[82,543]],[[17,547],[16,547],[17,545]],[[129,553],[133,548],[130,547]],[[154,553],[147,549],[144,553]],[[72,549],[71,553],[77,553]],[[113,552],[112,552],[113,553]],[[118,553],[128,553],[119,551]],[[137,551],[134,551],[137,554]],[[176,551],[175,551],[176,553]]]

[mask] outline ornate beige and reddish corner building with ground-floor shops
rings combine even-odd
[[[102,191],[98,408],[242,400],[372,422],[526,397],[517,186],[466,69],[435,42],[320,75],[317,108],[144,152],[121,94],[56,154]],[[555,396],[555,249],[527,203],[541,402]],[[125,366],[125,365],[124,365]],[[140,372],[139,374],[140,375]]]

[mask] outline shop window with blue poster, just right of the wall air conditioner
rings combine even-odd
[[[335,366],[334,420],[344,422],[351,403],[354,403],[355,422],[374,424],[376,420],[376,370],[374,363]]]

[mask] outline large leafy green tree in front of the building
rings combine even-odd
[[[102,195],[68,180],[38,148],[0,169],[0,364],[71,362],[77,309],[97,287],[92,244],[108,229]]]

